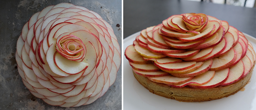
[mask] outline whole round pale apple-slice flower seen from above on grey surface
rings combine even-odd
[[[106,93],[117,76],[120,55],[112,27],[99,14],[60,3],[24,25],[16,61],[34,96],[54,106],[77,107]]]

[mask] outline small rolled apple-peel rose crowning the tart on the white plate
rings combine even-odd
[[[182,19],[185,22],[188,30],[195,30],[198,32],[205,30],[208,23],[208,17],[205,14],[184,14],[182,15]]]

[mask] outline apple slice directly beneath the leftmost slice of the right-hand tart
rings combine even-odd
[[[150,64],[135,64],[132,62],[129,62],[129,64],[131,65],[131,67],[135,70],[139,70],[139,71],[143,71],[143,72],[158,72],[160,71],[160,69],[156,66],[154,66],[154,64],[150,63]]]

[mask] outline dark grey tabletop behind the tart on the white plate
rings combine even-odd
[[[186,0],[124,0],[124,38],[155,26],[171,15],[204,13],[256,36],[256,9]]]

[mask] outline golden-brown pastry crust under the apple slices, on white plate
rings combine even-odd
[[[134,72],[133,73],[139,83],[153,94],[169,99],[175,99],[181,102],[204,102],[228,97],[240,91],[240,89],[242,89],[249,82],[254,66],[255,62],[247,76],[241,78],[239,81],[231,85],[217,86],[209,89],[198,89],[187,86],[182,88],[174,88],[168,86],[167,84],[150,81],[147,77],[140,76]]]

